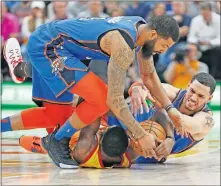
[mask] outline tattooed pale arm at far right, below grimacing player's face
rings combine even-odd
[[[198,112],[194,116],[183,114],[184,128],[191,135],[207,135],[214,126],[212,112]]]

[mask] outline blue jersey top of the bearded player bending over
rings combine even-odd
[[[146,23],[138,16],[121,16],[112,18],[79,18],[55,21],[47,24],[48,30],[61,34],[68,42],[66,47],[80,60],[99,59],[108,62],[109,55],[100,49],[100,38],[111,30],[118,30],[126,35],[135,47],[137,25]]]

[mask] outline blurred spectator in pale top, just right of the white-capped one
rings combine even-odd
[[[47,22],[55,21],[55,20],[63,20],[67,19],[67,7],[68,2],[65,1],[54,1],[51,3],[53,9],[53,16],[50,19],[47,19]],[[49,5],[48,5],[49,6]]]

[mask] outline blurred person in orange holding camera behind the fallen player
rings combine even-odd
[[[173,61],[163,74],[166,82],[174,87],[185,89],[195,74],[208,73],[208,66],[198,61],[198,57],[198,49],[195,44],[178,47]]]

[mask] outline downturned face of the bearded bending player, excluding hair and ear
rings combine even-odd
[[[172,40],[172,38],[165,39],[158,36],[153,46],[153,54],[165,53],[168,48],[170,48],[173,44],[174,41]]]

